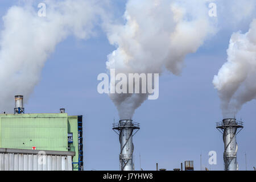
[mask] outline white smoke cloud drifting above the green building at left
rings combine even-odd
[[[14,95],[28,99],[56,45],[69,35],[94,35],[101,2],[65,0],[46,2],[46,17],[39,17],[31,2],[12,6],[3,17],[0,39],[0,109],[13,108]]]

